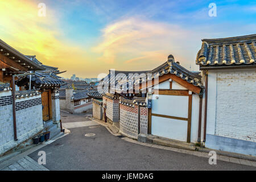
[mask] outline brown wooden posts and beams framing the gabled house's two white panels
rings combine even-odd
[[[152,93],[152,94],[154,94],[154,93]],[[187,143],[190,143],[191,142],[191,118],[192,118],[192,92],[189,90],[159,89],[158,94],[159,95],[168,95],[168,96],[188,96],[188,118],[174,117],[174,116],[162,115],[162,114],[154,114],[154,113],[152,113],[152,109],[148,109],[148,134],[151,134],[152,115],[156,116],[156,117],[178,119],[181,121],[188,122]]]

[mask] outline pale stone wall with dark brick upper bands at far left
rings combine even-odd
[[[0,92],[0,155],[43,130],[42,100],[39,92],[16,92],[14,140],[13,100],[10,90]]]

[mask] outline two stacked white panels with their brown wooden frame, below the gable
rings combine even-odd
[[[148,110],[148,133],[191,142],[192,92],[159,89],[158,94],[153,93],[152,97],[152,109]]]

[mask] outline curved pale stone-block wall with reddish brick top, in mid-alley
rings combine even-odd
[[[138,106],[134,107],[120,104],[120,131],[137,137],[138,135]]]

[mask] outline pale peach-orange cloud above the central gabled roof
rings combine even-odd
[[[187,47],[191,46],[190,42],[193,41],[191,38],[198,40],[199,35],[175,24],[131,17],[118,20],[104,28],[102,40],[93,51],[102,53],[98,59],[105,63],[112,65],[125,63],[126,69],[134,69],[142,65],[144,68],[152,69],[166,61],[170,54],[173,54],[183,65],[188,66],[194,61],[191,60],[194,54],[187,50]],[[189,43],[187,43],[188,39]],[[192,51],[197,50],[195,48]]]

